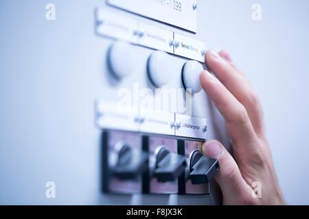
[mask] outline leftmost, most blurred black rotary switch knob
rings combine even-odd
[[[148,154],[122,144],[113,175],[121,180],[137,179],[148,168]]]

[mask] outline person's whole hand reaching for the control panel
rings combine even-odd
[[[207,51],[207,70],[200,76],[201,86],[214,102],[233,142],[233,157],[217,140],[203,144],[203,153],[220,162],[214,177],[222,190],[224,205],[284,205],[271,150],[264,133],[264,119],[258,96],[226,51]],[[258,181],[260,198],[253,193]]]

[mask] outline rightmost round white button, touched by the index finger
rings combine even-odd
[[[194,94],[202,90],[200,74],[203,70],[203,66],[194,60],[185,63],[183,66],[182,81],[187,92]]]

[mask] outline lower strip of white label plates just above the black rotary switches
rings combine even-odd
[[[97,101],[95,112],[95,123],[100,129],[206,139],[206,118],[129,108],[108,101]]]

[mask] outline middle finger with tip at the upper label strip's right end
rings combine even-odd
[[[205,61],[209,70],[244,105],[258,135],[263,134],[262,109],[249,81],[214,51],[207,51]]]

